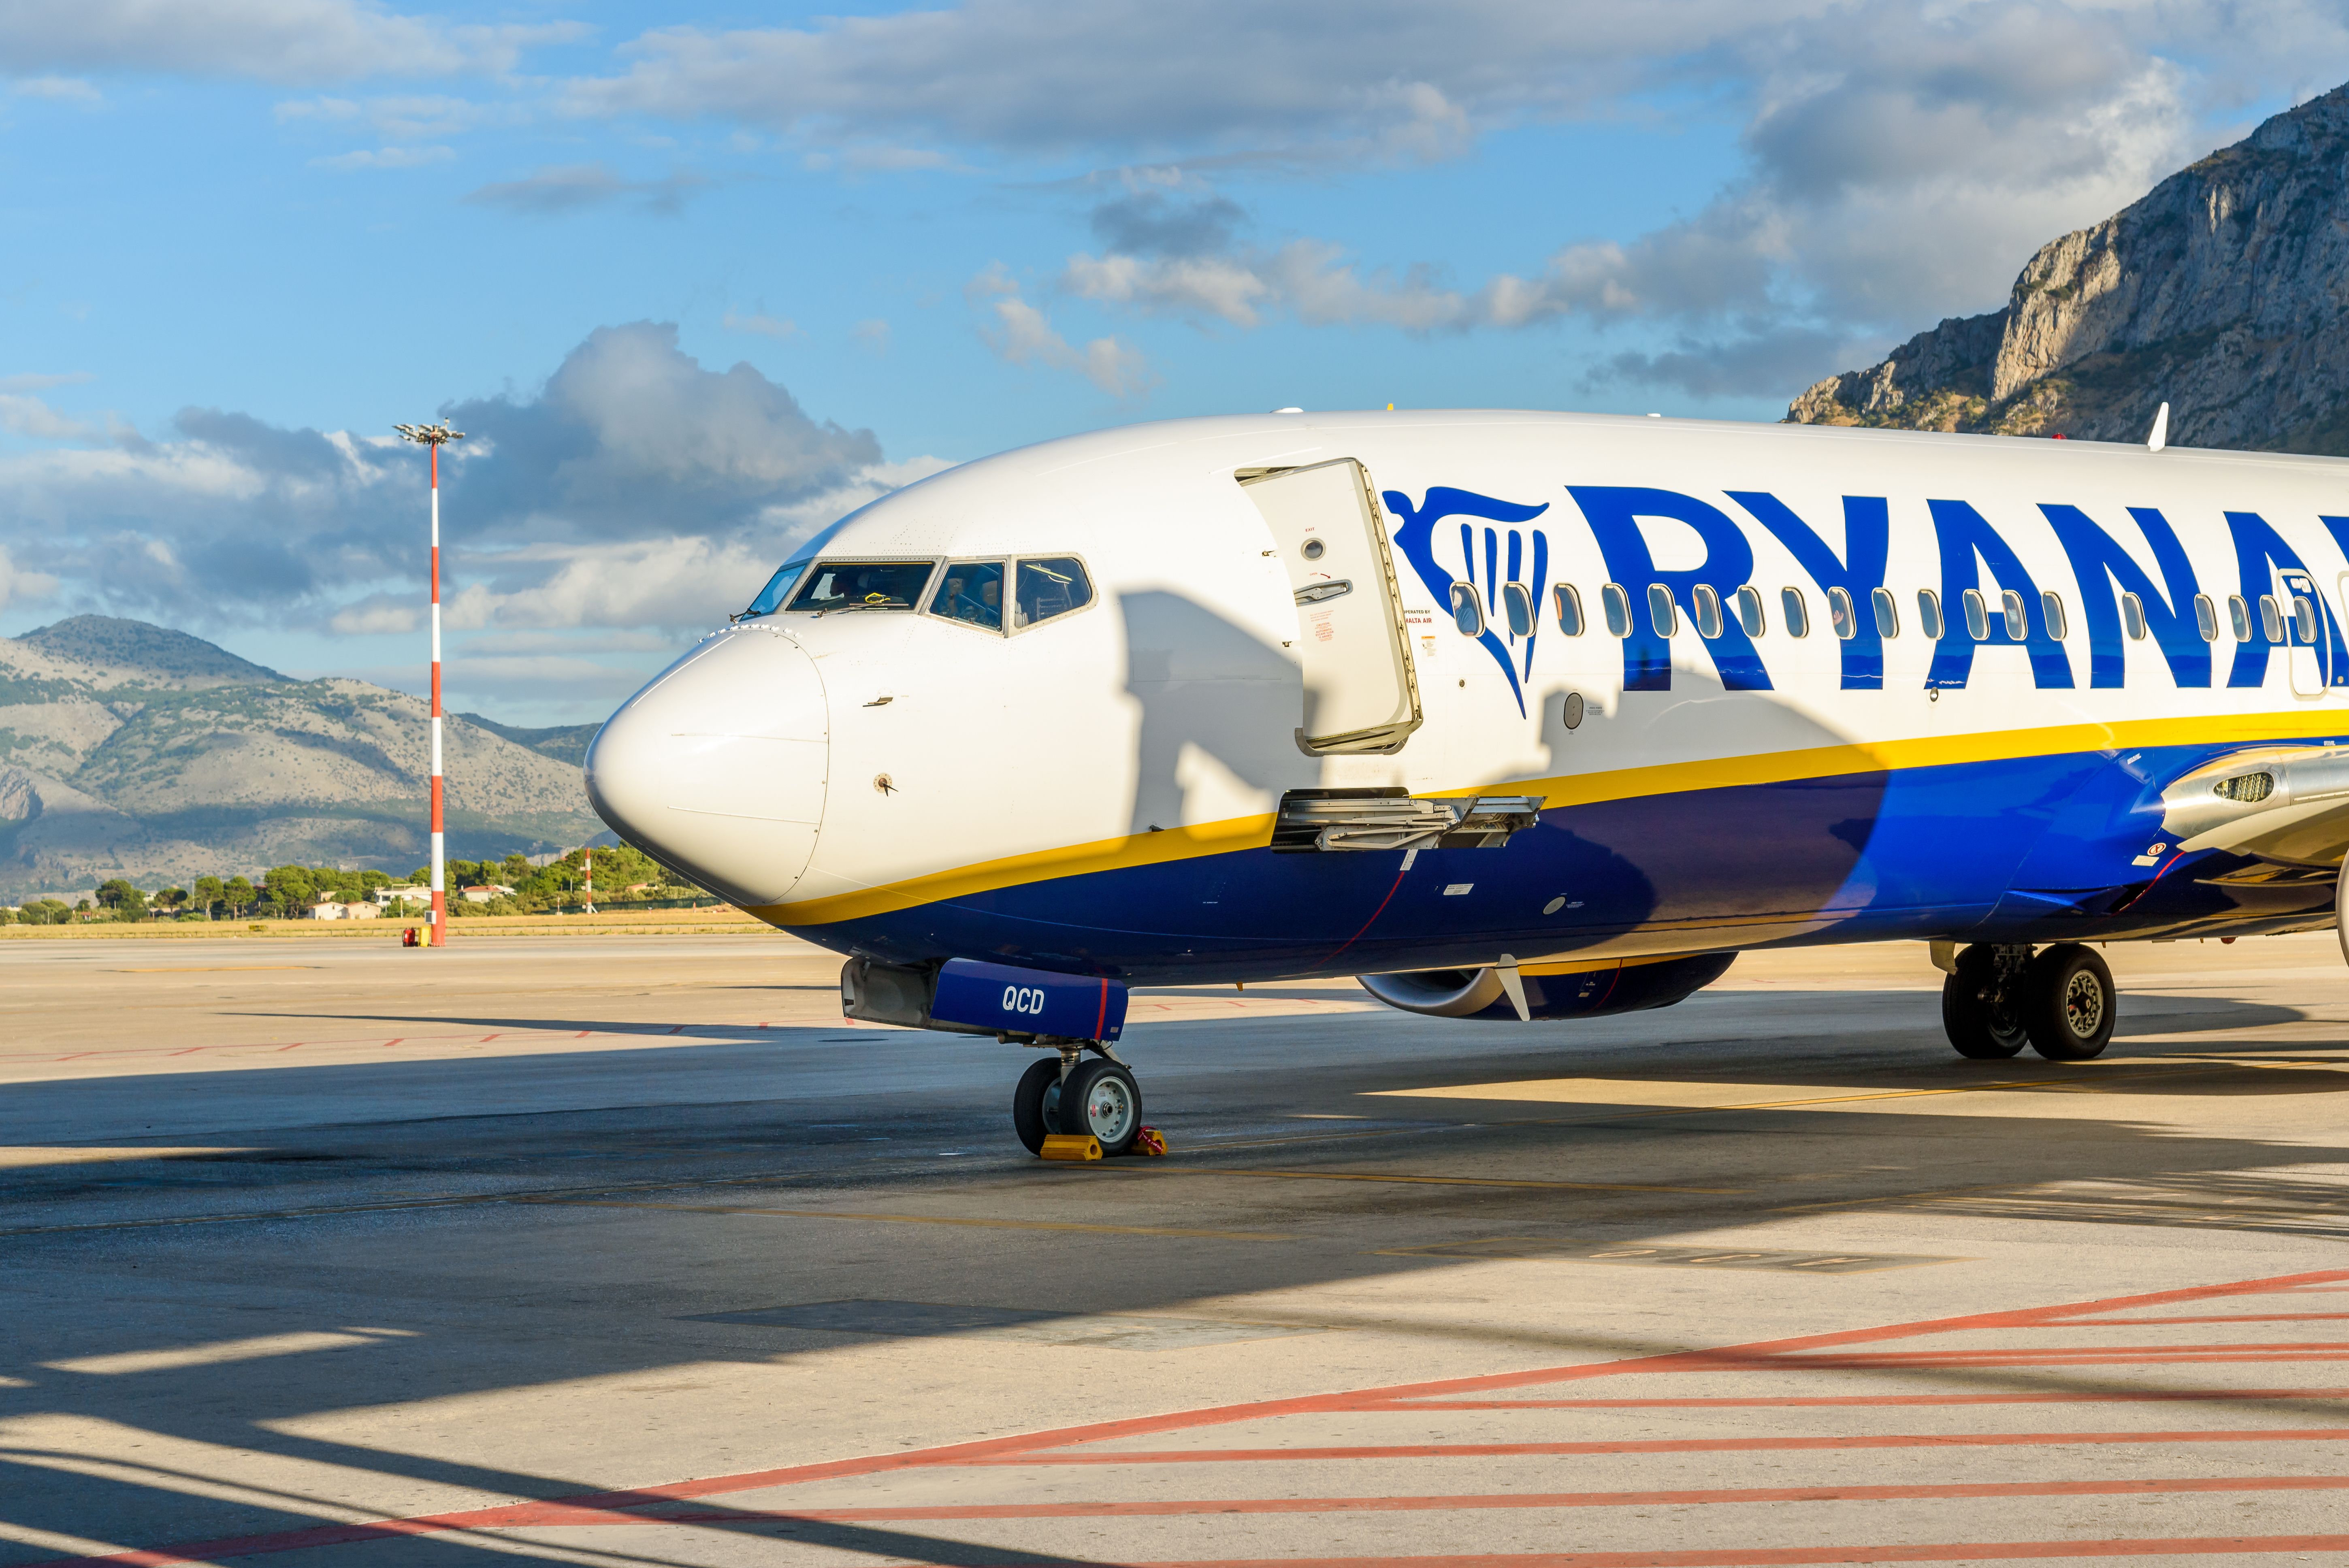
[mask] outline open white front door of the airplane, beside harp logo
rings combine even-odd
[[[1243,469],[1238,479],[1271,526],[1297,596],[1306,674],[1297,746],[1306,756],[1400,751],[1421,723],[1419,671],[1369,474],[1339,458],[1261,474]]]

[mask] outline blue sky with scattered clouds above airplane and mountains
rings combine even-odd
[[[832,516],[1144,418],[1778,418],[2349,77],[2337,7],[0,7],[0,631],[601,718]]]

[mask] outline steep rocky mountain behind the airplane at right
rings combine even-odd
[[[1896,425],[2349,455],[2349,87],[2051,239],[2004,310],[1947,319],[1795,399]]]

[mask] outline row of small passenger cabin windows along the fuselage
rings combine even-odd
[[[1583,620],[1583,596],[1571,582],[1560,582],[1550,592],[1557,608],[1557,629],[1567,636],[1581,636],[1586,629]],[[1729,627],[1729,617],[1736,620],[1745,636],[1762,636],[1769,629],[1764,615],[1762,589],[1755,584],[1741,587],[1722,603],[1722,596],[1710,587],[1698,582],[1689,599],[1696,606],[1696,636],[1715,638]],[[1992,610],[1990,601],[1980,589],[1966,589],[1961,599],[1966,636],[1978,643],[1990,641],[1992,624],[1999,622],[2006,636],[2022,641],[2030,636],[2030,610],[2022,594],[2015,589],[2004,589],[1999,594],[1999,606]],[[1607,620],[1609,636],[1630,636],[1630,589],[1621,582],[1609,582],[1600,589],[1600,615]],[[1900,636],[1900,603],[1893,599],[1891,589],[1875,589],[1867,596],[1870,620],[1877,624],[1877,636]],[[1534,596],[1522,582],[1501,584],[1501,617],[1508,624],[1510,636],[1534,634]],[[2039,596],[2039,617],[2046,634],[2058,643],[2069,636],[2069,617],[2062,608],[2062,594]],[[1797,587],[1778,589],[1778,620],[1788,636],[1811,634],[1811,603]],[[2227,596],[2227,627],[2234,631],[2234,641],[2286,641],[2286,620],[2290,620],[2290,641],[2314,643],[2316,641],[2316,606],[2309,603],[2304,594],[2290,599],[2290,608],[2276,594],[2262,594],[2257,620],[2253,617],[2253,606],[2241,594]],[[1461,636],[1485,634],[1485,596],[1473,582],[1452,584],[1452,622],[1461,629]],[[1647,622],[1658,636],[1680,634],[1680,606],[1672,599],[1672,589],[1661,582],[1647,587]],[[1851,603],[1851,594],[1844,589],[1828,589],[1828,624],[1835,636],[1853,638],[1860,634],[1858,606]],[[2208,594],[2194,596],[2194,624],[2201,629],[2206,643],[2215,643],[2220,636],[2217,606]],[[1917,629],[1924,631],[1929,641],[1940,641],[1947,631],[1940,615],[1940,594],[1933,589],[1917,589]],[[2145,641],[2145,601],[2135,594],[2121,594],[2121,629],[2131,641]]]

